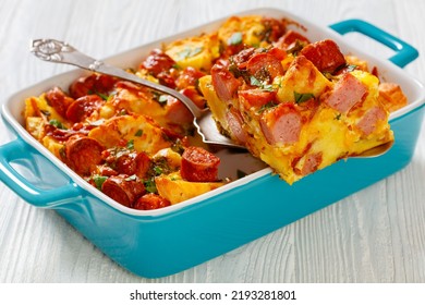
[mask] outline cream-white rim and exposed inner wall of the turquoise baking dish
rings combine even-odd
[[[312,24],[308,21],[305,21],[299,16],[292,15],[291,13],[277,10],[277,9],[257,9],[257,10],[250,10],[245,12],[241,12],[239,15],[251,15],[251,14],[258,14],[258,15],[265,15],[270,17],[288,17],[291,19],[303,26],[307,28],[307,32],[305,32],[305,36],[308,37],[312,41],[314,40],[320,40],[325,38],[331,38],[338,42],[338,45],[341,47],[342,51],[344,53],[352,53],[356,54],[357,57],[365,59],[368,61],[369,66],[378,66],[379,73],[387,82],[394,82],[401,85],[403,88],[405,95],[408,96],[408,99],[410,103],[404,107],[403,109],[400,109],[393,113],[391,113],[390,120],[393,120],[396,118],[399,118],[413,109],[422,106],[422,103],[425,100],[425,90],[424,86],[418,83],[413,77],[406,75],[406,73],[389,62],[386,59],[377,59],[369,54],[364,53],[360,48],[353,45],[349,45],[344,41],[343,37],[339,34],[335,33],[330,28],[327,27],[319,27],[315,24]],[[105,62],[108,62],[110,64],[120,66],[120,68],[130,68],[130,66],[137,66],[139,62],[149,53],[150,50],[154,48],[160,47],[163,42],[173,41],[179,38],[190,37],[194,36],[201,33],[208,33],[211,30],[215,30],[218,28],[220,24],[222,24],[223,21],[226,21],[228,16],[218,20],[212,23],[208,23],[204,26],[199,26],[196,28],[193,28],[191,30],[183,32],[178,35],[170,36],[168,38],[163,38],[154,42],[150,42],[148,45],[129,50],[123,53],[119,53],[117,56],[113,56],[111,58],[108,58],[105,60]],[[300,28],[298,28],[300,29]],[[40,63],[41,64],[41,63]],[[62,161],[53,157],[50,151],[45,148],[40,143],[35,141],[23,127],[23,117],[22,117],[22,110],[24,107],[24,100],[25,98],[29,96],[38,96],[40,93],[51,88],[52,86],[60,86],[62,88],[68,88],[72,81],[74,81],[76,77],[81,76],[82,74],[85,74],[87,72],[84,72],[82,70],[74,70],[68,73],[63,73],[60,75],[52,76],[48,80],[45,80],[32,87],[28,87],[26,89],[23,89],[12,97],[9,98],[5,105],[3,105],[3,117],[4,119],[13,126],[13,129],[17,132],[17,134],[28,144],[34,146],[40,154],[42,154],[46,158],[50,159],[62,172],[64,172],[66,175],[69,175],[78,186],[82,188],[93,193],[95,196],[102,199],[106,204],[110,205],[111,207],[134,216],[159,216],[163,213],[168,213],[170,211],[181,209],[183,207],[186,207],[189,205],[193,205],[196,203],[199,203],[208,197],[216,196],[220,193],[228,192],[234,187],[241,186],[245,183],[250,183],[251,181],[254,181],[263,175],[270,174],[271,170],[267,168],[263,162],[258,161],[257,159],[253,158],[248,154],[231,154],[230,151],[222,150],[219,151],[218,155],[221,158],[221,168],[220,168],[220,176],[231,176],[235,178],[236,172],[244,172],[247,173],[246,176],[242,179],[238,179],[220,188],[217,188],[215,191],[211,191],[209,193],[206,193],[204,195],[197,196],[195,198],[192,198],[190,200],[186,200],[184,203],[158,209],[158,210],[134,210],[126,208],[114,200],[110,199],[108,196],[102,194],[101,192],[97,191],[95,187],[86,183],[82,178],[80,178],[75,172],[73,172],[70,168],[68,168]]]

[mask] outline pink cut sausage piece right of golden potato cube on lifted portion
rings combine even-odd
[[[325,102],[341,113],[347,113],[350,109],[362,100],[367,93],[367,87],[355,76],[345,73],[338,81],[333,90],[325,98]]]

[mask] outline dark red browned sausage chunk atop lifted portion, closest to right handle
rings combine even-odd
[[[309,44],[301,50],[300,54],[313,62],[320,72],[333,73],[345,64],[345,58],[338,45],[330,39]]]

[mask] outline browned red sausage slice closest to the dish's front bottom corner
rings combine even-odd
[[[146,193],[144,184],[125,174],[108,178],[101,185],[101,192],[123,206],[132,207],[135,200]]]

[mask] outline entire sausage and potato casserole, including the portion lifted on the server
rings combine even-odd
[[[380,84],[332,40],[312,44],[290,25],[231,17],[129,71],[208,106],[226,135],[289,183],[392,141],[388,111],[404,105],[400,87]],[[166,207],[228,182],[218,176],[220,159],[193,136],[183,103],[130,82],[90,74],[29,97],[24,117],[51,152],[131,208]]]

